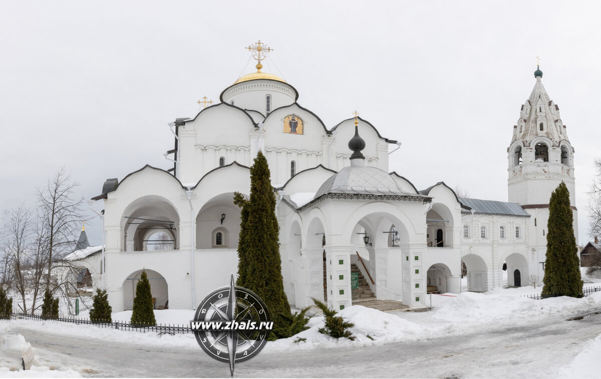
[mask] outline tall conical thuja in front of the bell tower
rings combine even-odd
[[[570,192],[563,181],[549,200],[547,231],[542,296],[582,297],[582,277],[574,237]]]

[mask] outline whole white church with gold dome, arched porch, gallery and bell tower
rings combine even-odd
[[[96,259],[88,268],[95,286],[102,277],[114,312],[132,309],[142,270],[157,308],[195,309],[227,285],[240,230],[233,194],[249,194],[259,150],[276,193],[291,305],[310,305],[310,297],[334,309],[352,305],[352,271],[367,282],[368,297],[413,308],[426,305],[428,292],[459,293],[462,263],[469,291],[504,285],[504,263],[510,286],[528,285],[531,275],[542,280],[549,196],[561,181],[576,213],[574,149],[542,71],[513,127],[509,202],[500,202],[457,198],[442,182],[416,189],[388,171],[397,141],[359,117],[326,126],[297,103],[292,85],[261,71],[269,48],[251,47],[257,72],[171,124],[173,168],[108,179],[93,198],[104,202],[105,265]]]

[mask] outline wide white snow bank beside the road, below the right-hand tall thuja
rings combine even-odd
[[[433,317],[456,323],[499,321],[520,323],[526,318],[565,316],[586,312],[591,306],[601,305],[599,294],[584,299],[564,296],[532,300],[511,295],[466,292],[459,294],[455,298],[456,301],[443,305]]]

